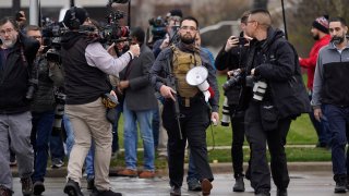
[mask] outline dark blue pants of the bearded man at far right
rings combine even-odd
[[[349,107],[336,107],[324,105],[329,131],[332,133],[332,162],[333,172],[336,175],[347,175],[346,145],[348,144],[347,132],[349,125]]]

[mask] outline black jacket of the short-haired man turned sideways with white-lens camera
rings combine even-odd
[[[302,81],[298,54],[284,33],[269,28],[267,39],[251,44],[248,69],[255,68],[255,76],[266,79],[269,100],[279,118],[296,118],[310,112],[310,101]]]

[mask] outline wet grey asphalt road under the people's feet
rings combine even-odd
[[[335,182],[333,181],[332,171],[302,171],[291,172],[291,182],[289,185],[289,196],[332,196],[334,194]],[[112,189],[121,192],[124,196],[168,196],[170,187],[168,177],[155,177],[153,180],[142,180],[137,177],[110,177]],[[65,180],[63,177],[48,177],[45,181],[46,192],[43,195],[62,196]],[[246,192],[232,193],[233,177],[231,174],[215,174],[213,183],[213,196],[252,196],[253,189],[250,182],[245,181]],[[15,177],[14,196],[22,196],[20,179]],[[89,195],[86,191],[86,182],[83,181],[83,193]],[[273,185],[272,196],[276,195],[276,187]],[[186,183],[182,187],[183,196],[198,196],[201,193],[189,192]]]

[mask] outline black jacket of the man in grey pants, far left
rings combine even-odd
[[[22,50],[23,48],[23,50]],[[39,48],[37,40],[19,34],[19,39],[10,49],[5,64],[0,69],[0,113],[22,113],[29,111],[25,98],[33,61]],[[21,56],[24,52],[25,60]],[[0,59],[0,61],[2,61]]]

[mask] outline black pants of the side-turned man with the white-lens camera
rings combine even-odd
[[[251,102],[245,113],[245,133],[251,147],[251,185],[255,193],[270,191],[270,172],[266,158],[266,143],[270,152],[270,169],[275,185],[286,189],[290,182],[285,154],[286,137],[291,119],[280,119],[276,130],[262,127],[260,103]]]

